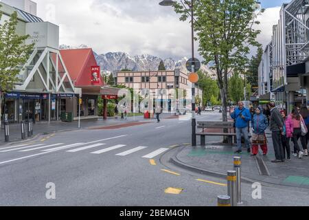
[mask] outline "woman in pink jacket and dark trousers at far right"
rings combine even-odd
[[[306,133],[304,135],[301,135],[301,124],[305,125],[304,119],[303,117],[301,117],[301,114],[299,113],[299,110],[297,109],[297,107],[295,107],[292,110],[292,113],[290,114],[290,117],[292,118],[292,122],[293,122],[293,144],[294,144],[294,152],[293,155],[295,157],[299,157],[299,159],[301,159],[304,155],[304,152],[301,151],[301,148],[298,144],[298,140],[299,137],[301,137],[301,145],[303,146],[303,148],[306,148],[306,133],[307,133],[307,128],[306,126],[304,126],[304,129],[306,130]]]

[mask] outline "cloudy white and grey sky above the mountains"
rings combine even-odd
[[[161,58],[190,57],[190,24],[179,21],[161,0],[34,0],[38,17],[60,26],[60,44],[93,47],[99,54],[127,52]],[[288,2],[290,0],[287,0]],[[266,12],[259,18],[258,41],[271,41],[282,0],[260,0]],[[196,49],[198,44],[196,43]],[[197,50],[196,50],[197,52]]]

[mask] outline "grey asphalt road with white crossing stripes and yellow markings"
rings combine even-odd
[[[220,120],[218,112],[197,117]],[[191,121],[163,119],[0,146],[0,206],[216,206],[225,179],[168,162],[176,144],[190,141]],[[244,206],[309,206],[308,190],[262,186],[262,199],[252,191],[242,184]]]

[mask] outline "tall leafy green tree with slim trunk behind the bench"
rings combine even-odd
[[[198,51],[205,63],[214,62],[222,101],[222,120],[227,121],[227,75],[231,70],[244,69],[248,63],[250,46],[259,46],[255,30],[258,7],[255,0],[200,0],[194,1],[194,29],[199,41]],[[190,9],[174,3],[181,21],[190,17]],[[264,10],[260,10],[263,12]]]

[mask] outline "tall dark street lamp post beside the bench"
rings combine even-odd
[[[187,1],[185,1],[187,3]],[[172,6],[175,1],[163,0],[159,3],[162,6]],[[194,14],[193,14],[193,3],[191,0],[190,10],[191,10],[191,35],[192,35],[192,73],[195,72],[194,65]],[[195,83],[192,83],[192,146],[196,146],[196,118],[195,118]]]

